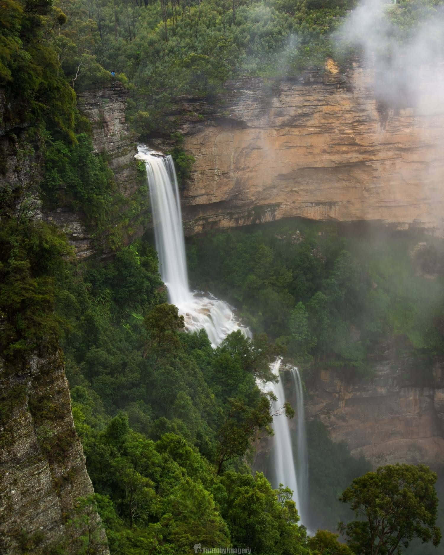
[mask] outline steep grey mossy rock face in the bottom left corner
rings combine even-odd
[[[0,553],[77,553],[81,541],[109,553],[92,493],[59,355],[32,356],[20,372],[2,363]]]

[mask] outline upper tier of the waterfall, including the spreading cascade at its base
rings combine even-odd
[[[169,301],[184,316],[186,329],[198,331],[204,328],[214,347],[236,330],[241,330],[250,337],[249,328],[236,320],[233,308],[228,303],[211,294],[205,296],[190,291],[179,188],[173,159],[143,145],[138,145],[138,151],[135,157],[144,160],[147,167],[159,269],[168,288]]]

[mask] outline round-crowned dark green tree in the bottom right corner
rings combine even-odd
[[[359,520],[339,524],[347,544],[359,555],[401,553],[413,538],[437,546],[436,474],[425,465],[381,466],[356,478],[340,501],[350,503]]]

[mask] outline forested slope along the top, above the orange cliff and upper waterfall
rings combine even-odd
[[[142,136],[174,131],[170,102],[178,95],[214,96],[226,79],[239,75],[276,77],[298,74],[308,65],[323,67],[334,52],[330,34],[351,7],[347,0],[139,4],[56,1],[44,19],[43,42],[58,75],[64,73],[75,90],[113,79],[128,82],[130,120]],[[16,48],[13,29],[20,16],[19,10],[18,16],[11,12],[6,62]],[[180,149],[173,155],[185,178],[192,160]]]

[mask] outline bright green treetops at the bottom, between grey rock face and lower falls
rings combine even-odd
[[[264,555],[307,553],[291,492],[273,491],[263,475],[219,478],[183,437],[167,433],[153,442],[132,431],[123,415],[103,432],[89,428],[83,445],[114,553],[189,553],[195,543],[248,542]],[[266,522],[264,511],[270,513]]]

